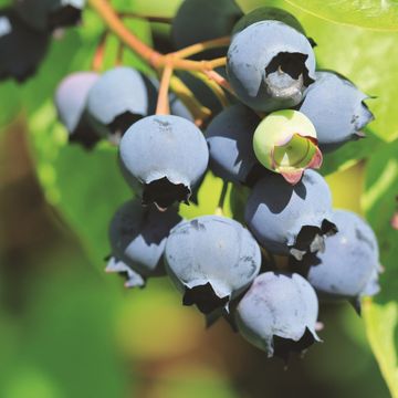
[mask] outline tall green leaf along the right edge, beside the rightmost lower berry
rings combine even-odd
[[[398,195],[398,140],[381,146],[369,159],[366,169],[363,207],[375,230],[385,271],[381,291],[365,302],[367,335],[381,373],[394,397],[398,397],[398,231],[390,220]]]

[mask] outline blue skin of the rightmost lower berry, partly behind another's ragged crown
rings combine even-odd
[[[327,298],[357,298],[378,292],[379,252],[371,228],[356,213],[336,210],[338,232],[326,239],[307,280]]]

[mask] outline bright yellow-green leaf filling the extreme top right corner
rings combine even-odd
[[[286,0],[318,18],[375,30],[398,31],[398,4],[394,0]]]

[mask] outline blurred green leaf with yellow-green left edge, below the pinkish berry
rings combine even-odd
[[[30,128],[46,200],[75,231],[95,265],[103,269],[109,254],[108,222],[117,207],[133,197],[118,168],[116,148],[102,143],[86,151],[69,145],[51,102],[32,115]]]

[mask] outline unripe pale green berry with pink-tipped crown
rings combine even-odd
[[[311,121],[297,111],[276,111],[268,115],[253,136],[255,157],[269,170],[297,184],[305,169],[320,168],[322,153]]]

